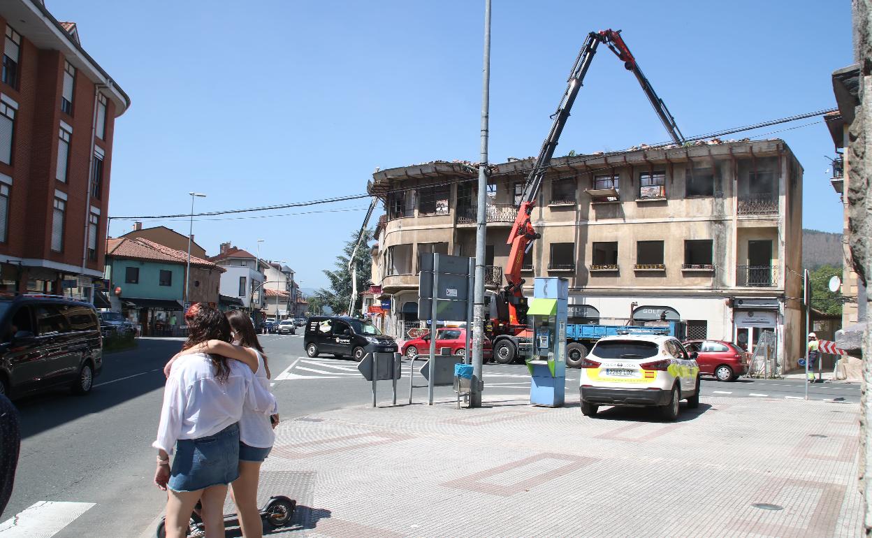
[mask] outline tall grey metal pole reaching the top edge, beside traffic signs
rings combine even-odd
[[[481,406],[480,384],[485,330],[485,246],[487,242],[487,129],[490,110],[490,8],[485,0],[485,46],[481,69],[481,157],[479,163],[478,215],[475,227],[475,294],[473,312],[473,382],[469,406]]]

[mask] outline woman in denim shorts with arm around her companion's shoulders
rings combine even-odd
[[[189,353],[217,353],[248,364],[255,372],[256,381],[264,390],[269,390],[269,364],[257,340],[251,318],[241,310],[231,310],[226,316],[230,323],[233,344],[221,339],[202,342],[193,348],[182,350],[167,363],[164,371],[172,371],[174,361]],[[276,440],[273,428],[278,424],[278,419],[277,413],[268,418],[261,412],[245,407],[239,420],[239,478],[230,485],[230,495],[236,505],[240,528],[245,538],[262,538],[263,525],[257,507],[257,487],[263,460],[269,455]]]

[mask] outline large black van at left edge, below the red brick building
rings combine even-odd
[[[103,369],[103,339],[92,304],[63,296],[0,296],[0,393],[9,398],[56,387],[91,392]]]

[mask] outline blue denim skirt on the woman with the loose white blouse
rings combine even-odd
[[[167,486],[197,491],[239,478],[239,424],[200,439],[179,439]]]

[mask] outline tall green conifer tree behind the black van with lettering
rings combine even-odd
[[[372,230],[365,229],[363,240],[360,242],[357,255],[354,256],[354,267],[358,269],[358,294],[363,291],[366,284],[370,282],[372,273],[372,258],[370,255],[370,242],[372,241]],[[351,240],[345,242],[342,249],[342,254],[336,256],[334,266],[336,269],[324,269],[324,275],[330,280],[330,289],[318,289],[314,296],[309,299],[309,308],[313,312],[316,310],[324,311],[324,307],[330,307],[333,314],[343,314],[348,312],[348,303],[351,299],[351,271],[348,270],[348,261],[351,259],[351,253],[354,251],[354,246],[358,242],[358,232],[351,234]],[[354,311],[359,312],[363,299],[358,297],[354,301]]]

